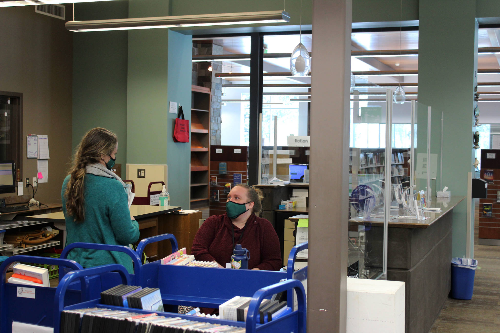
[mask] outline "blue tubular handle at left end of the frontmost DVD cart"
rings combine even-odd
[[[121,276],[121,282],[124,285],[130,284],[130,279],[128,277],[128,272],[123,267],[123,265],[119,264],[109,264],[91,268],[84,268],[79,271],[68,272],[66,275],[62,277],[62,280],[59,282],[57,289],[55,290],[54,296],[54,333],[59,333],[59,325],[60,325],[60,315],[64,310],[64,296],[66,294],[66,290],[69,287],[69,284],[72,280],[78,278],[84,278],[90,275],[97,275],[101,273],[107,272],[118,272]]]

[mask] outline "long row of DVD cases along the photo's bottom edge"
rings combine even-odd
[[[245,328],[164,317],[155,313],[138,314],[102,308],[67,310],[61,313],[61,333],[244,333]]]

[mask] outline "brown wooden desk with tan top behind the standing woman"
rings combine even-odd
[[[171,213],[179,209],[180,207],[176,206],[131,205],[130,215],[139,224],[139,241],[146,237],[173,234],[177,239],[179,248],[185,247],[187,253],[190,253],[194,235],[198,230],[198,220],[201,218],[201,212],[197,211],[189,214]],[[55,228],[63,231],[62,244],[65,244],[66,226],[62,212],[29,216],[29,219],[33,221],[53,222]],[[157,255],[161,259],[171,253],[170,242],[162,241],[148,244],[144,252],[147,257]]]

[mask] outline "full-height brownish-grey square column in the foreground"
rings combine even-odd
[[[313,0],[307,332],[345,332],[351,0]]]

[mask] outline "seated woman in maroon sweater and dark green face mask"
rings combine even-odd
[[[191,247],[196,260],[231,262],[232,250],[241,244],[250,252],[248,269],[278,271],[281,268],[279,240],[271,223],[257,217],[262,209],[260,190],[235,185],[227,195],[224,215],[213,215],[201,225]]]

